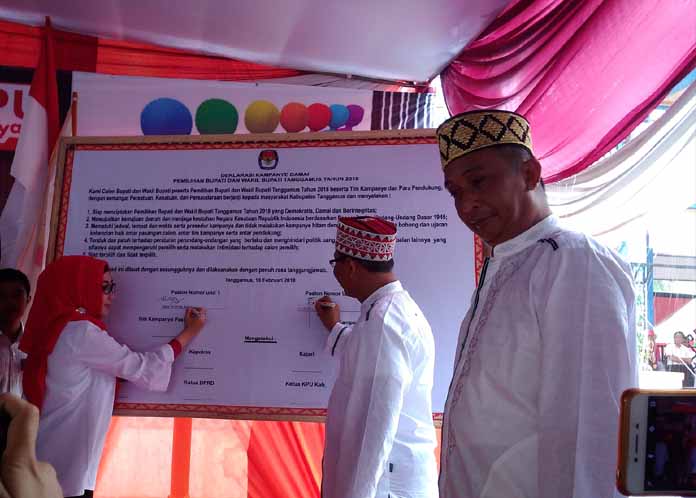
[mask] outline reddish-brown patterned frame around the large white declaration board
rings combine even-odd
[[[67,228],[70,185],[75,152],[81,150],[198,150],[296,147],[352,147],[368,145],[437,144],[435,130],[388,130],[359,132],[321,132],[246,135],[161,135],[142,137],[63,137],[56,167],[55,191],[46,263],[63,254]],[[483,265],[484,251],[475,238],[475,269]],[[323,422],[325,409],[250,407],[194,404],[116,404],[115,415],[156,417],[202,417],[241,420],[292,420]],[[436,425],[442,413],[433,413]]]

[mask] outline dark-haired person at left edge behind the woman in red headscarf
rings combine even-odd
[[[19,349],[22,317],[31,300],[27,276],[13,268],[0,269],[0,393],[22,396],[22,361]]]

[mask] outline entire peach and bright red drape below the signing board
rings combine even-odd
[[[113,417],[94,496],[319,497],[323,424],[193,419],[185,468],[175,465],[173,426],[166,417]],[[441,436],[438,429],[438,443]],[[435,455],[439,466],[439,448]],[[175,492],[183,481],[188,489]]]

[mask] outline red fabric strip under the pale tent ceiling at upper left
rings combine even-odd
[[[231,81],[303,74],[294,69],[60,30],[54,30],[54,38],[56,66],[66,71]],[[0,66],[36,67],[40,47],[40,28],[0,21]]]

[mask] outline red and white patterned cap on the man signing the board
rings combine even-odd
[[[394,257],[396,225],[376,216],[339,218],[336,252],[366,261],[389,261]]]

